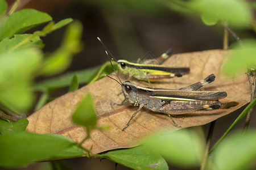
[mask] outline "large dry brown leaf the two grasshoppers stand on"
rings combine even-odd
[[[220,100],[221,103],[230,101],[239,103],[236,107],[229,109],[198,111],[183,114],[184,118],[174,117],[177,125],[187,128],[208,124],[249,102],[250,87],[246,75],[233,79],[227,79],[220,75],[220,66],[227,53],[228,51],[225,50],[207,50],[175,54],[163,63],[166,66],[190,67],[191,73],[182,78],[162,80],[152,84],[152,86],[177,89],[196,83],[213,73],[216,75],[215,81],[205,86],[204,90],[226,91],[228,96]],[[115,78],[115,75],[112,74],[112,77]],[[122,81],[127,80],[125,76],[121,76],[121,79]],[[148,87],[146,82],[137,82],[137,84]],[[113,102],[121,103],[124,99],[122,94],[118,95],[121,92],[121,86],[110,78],[103,78],[77,91],[60,96],[32,114],[28,117],[30,123],[27,131],[40,134],[61,134],[80,142],[85,138],[86,131],[81,126],[72,123],[71,115],[86,92],[90,92],[94,97],[94,104],[98,113],[98,126],[111,126],[109,130],[105,131],[93,130],[91,138],[84,142],[83,146],[91,149],[93,154],[116,148],[137,146],[140,138],[158,130],[167,128],[173,131],[177,130],[166,114],[142,109],[133,118],[130,126],[122,131],[138,107],[127,102],[122,106],[113,104]]]

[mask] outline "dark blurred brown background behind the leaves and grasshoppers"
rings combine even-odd
[[[7,2],[9,5],[14,3],[14,1]],[[98,42],[97,37],[100,37],[108,46],[115,58],[129,61],[136,61],[148,51],[155,56],[160,56],[169,48],[172,48],[174,54],[222,49],[224,32],[222,25],[207,26],[201,22],[199,16],[180,12],[182,10],[168,1],[24,0],[21,1],[20,7],[47,12],[55,22],[73,18],[82,23],[84,27],[83,49],[76,54],[71,66],[64,73],[99,66],[108,61],[105,49]],[[46,37],[41,37],[46,44],[43,49],[45,53],[52,52],[60,45],[64,31],[65,27]],[[241,39],[255,38],[255,33],[250,29],[235,29],[234,31]],[[229,40],[230,45],[236,41],[232,36]],[[215,140],[220,138],[242,109],[217,121],[213,136]],[[241,127],[243,123],[244,121],[240,122],[241,125],[238,124],[238,127]],[[209,125],[205,125],[204,129],[207,133]],[[78,158],[65,160],[62,163],[70,165],[73,169],[129,169],[116,165],[110,160],[100,159]],[[49,169],[49,164],[51,163],[34,163],[27,168],[19,169]],[[172,165],[169,167],[175,169]]]

